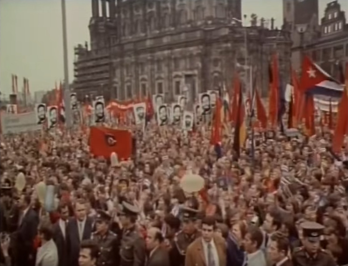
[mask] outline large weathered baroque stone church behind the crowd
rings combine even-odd
[[[80,99],[106,100],[187,90],[189,99],[225,85],[235,71],[249,86],[252,65],[262,94],[268,91],[268,62],[279,54],[288,81],[290,32],[270,29],[249,16],[242,27],[242,0],[92,0],[90,47],[75,48],[74,90]],[[247,18],[246,18],[247,19]]]

